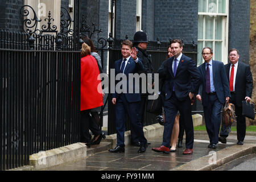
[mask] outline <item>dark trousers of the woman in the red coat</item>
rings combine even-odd
[[[101,134],[97,123],[90,116],[90,109],[81,111],[81,142],[90,142],[92,135],[90,135],[89,130],[92,131],[93,135]]]

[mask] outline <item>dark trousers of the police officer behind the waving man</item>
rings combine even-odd
[[[147,102],[147,96],[141,96],[141,102],[139,102],[139,115],[141,118],[141,124],[143,126],[144,124],[144,111],[146,108],[146,102]],[[135,133],[135,130],[133,129],[133,126],[131,126],[131,142],[137,143],[139,142],[138,136]]]

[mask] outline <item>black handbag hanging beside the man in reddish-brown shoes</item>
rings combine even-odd
[[[147,112],[153,114],[162,114],[162,99],[160,94],[158,94],[158,98],[156,98],[156,94],[158,93],[154,94],[154,100],[147,99]]]

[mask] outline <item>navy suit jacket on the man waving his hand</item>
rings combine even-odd
[[[122,59],[115,61],[115,76],[117,76],[118,73],[120,72],[120,67],[121,67],[121,63],[122,63]],[[128,60],[125,70],[124,70],[124,74],[126,75],[127,78],[127,93],[123,93],[125,94],[125,97],[127,99],[128,102],[138,102],[141,101],[141,94],[140,93],[135,93],[135,86],[136,88],[139,88],[139,82],[135,82],[133,80],[133,93],[129,93],[129,73],[138,73],[139,71],[142,71],[143,68],[143,64],[141,63],[141,60],[138,57],[138,63],[135,63],[135,61],[133,60],[132,57],[130,57],[130,59]],[[119,81],[115,81],[115,86],[117,85]],[[115,90],[115,89],[114,89]],[[112,98],[117,98],[118,100],[119,94],[116,92],[112,94]]]

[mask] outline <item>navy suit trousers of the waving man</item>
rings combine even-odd
[[[125,146],[125,122],[126,114],[129,117],[131,127],[137,134],[139,142],[146,145],[141,119],[139,117],[139,102],[127,102],[124,94],[120,94],[115,105],[115,128],[117,129],[117,146]]]

